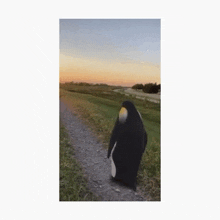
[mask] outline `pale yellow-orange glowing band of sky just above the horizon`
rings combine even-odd
[[[100,61],[60,54],[60,82],[106,83],[133,86],[160,83],[160,66],[141,62]]]

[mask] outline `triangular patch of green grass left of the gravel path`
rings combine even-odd
[[[60,201],[97,201],[88,187],[82,169],[74,159],[74,149],[64,126],[60,126]]]

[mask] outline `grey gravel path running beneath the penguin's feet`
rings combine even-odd
[[[102,201],[149,200],[141,194],[139,187],[134,192],[111,180],[111,162],[107,159],[107,150],[102,148],[102,144],[89,131],[87,125],[62,101],[60,101],[60,118],[74,146],[76,159],[88,178],[88,186],[94,194]]]

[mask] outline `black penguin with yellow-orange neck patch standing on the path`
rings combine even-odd
[[[107,157],[113,180],[136,191],[137,172],[147,145],[142,117],[131,101],[124,101],[110,137]]]

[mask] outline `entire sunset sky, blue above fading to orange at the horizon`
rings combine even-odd
[[[60,82],[160,83],[160,19],[60,19]]]

